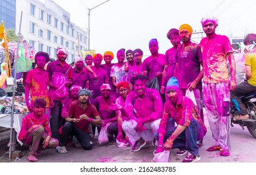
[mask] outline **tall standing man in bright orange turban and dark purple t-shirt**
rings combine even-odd
[[[183,96],[187,89],[195,94],[195,101],[203,121],[203,69],[200,71],[200,66],[203,66],[203,58],[200,46],[191,42],[192,32],[193,29],[190,25],[182,24],[180,26],[179,33],[182,44],[178,46],[175,56],[177,61],[175,76]]]

